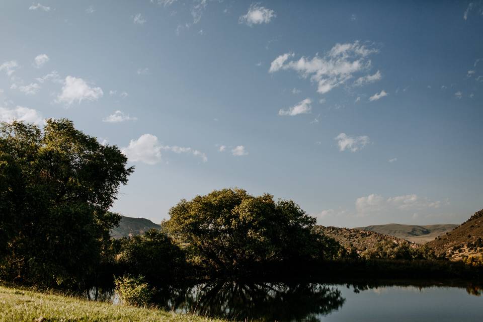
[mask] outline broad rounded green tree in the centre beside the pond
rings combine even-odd
[[[166,229],[192,263],[212,274],[246,275],[268,263],[332,258],[340,245],[313,232],[315,218],[293,201],[241,189],[215,190],[170,209]]]

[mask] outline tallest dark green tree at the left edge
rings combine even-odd
[[[0,274],[43,286],[83,287],[99,270],[108,212],[133,168],[66,119],[43,129],[0,123]]]

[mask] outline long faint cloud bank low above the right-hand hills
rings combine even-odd
[[[383,198],[381,195],[371,194],[367,197],[356,199],[356,211],[359,215],[370,215],[375,213],[395,211],[411,211],[424,209],[438,209],[441,206],[448,205],[448,200],[431,201],[426,197],[419,197],[416,194],[402,195],[389,198]]]

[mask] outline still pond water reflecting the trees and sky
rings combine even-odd
[[[483,321],[474,286],[234,282],[200,284],[158,294],[158,306],[234,320]],[[111,297],[114,302],[117,297]]]

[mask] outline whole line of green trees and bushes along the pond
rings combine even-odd
[[[67,119],[47,120],[43,128],[0,123],[0,279],[81,290],[116,278],[118,289],[136,298],[148,297],[152,285],[303,275],[329,261],[361,258],[317,232],[315,218],[293,201],[242,189],[183,199],[162,229],[111,239],[120,216],[108,210],[133,171],[117,146]],[[389,244],[366,253],[434,255]]]

